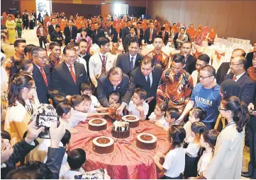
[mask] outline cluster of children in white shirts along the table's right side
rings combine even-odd
[[[191,109],[189,121],[183,127],[175,125],[180,115],[177,108],[168,108],[166,102],[157,104],[150,114],[150,122],[168,132],[170,143],[169,152],[165,155],[157,152],[154,162],[164,172],[164,179],[202,179],[213,158],[219,133],[214,129],[206,130],[201,122],[206,113],[199,107]],[[164,164],[160,164],[161,158],[165,158]]]

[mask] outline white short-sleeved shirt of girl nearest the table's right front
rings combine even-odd
[[[174,178],[184,172],[185,153],[186,150],[180,147],[170,150],[167,155],[165,155],[165,162],[162,164],[162,167],[167,170],[167,172],[165,172],[165,176]]]

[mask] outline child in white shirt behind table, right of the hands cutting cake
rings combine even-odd
[[[133,97],[128,107],[126,107],[128,114],[138,116],[141,121],[146,119],[148,115],[148,103],[145,102],[147,98],[147,92],[141,88],[137,88],[133,92]]]

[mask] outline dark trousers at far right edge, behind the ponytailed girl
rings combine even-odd
[[[256,116],[251,116],[250,121],[256,121]],[[250,162],[248,164],[248,174],[252,174],[252,179],[256,179],[256,130],[248,124]]]

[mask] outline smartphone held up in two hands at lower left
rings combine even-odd
[[[60,126],[59,116],[38,115],[35,121],[36,126],[45,128],[38,137],[50,139],[50,125],[55,121],[57,122],[57,127]]]

